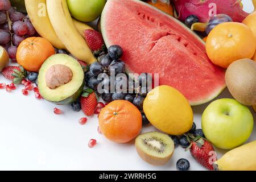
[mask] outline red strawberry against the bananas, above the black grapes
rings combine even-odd
[[[84,31],[85,40],[95,55],[99,55],[104,51],[105,44],[100,32],[87,29]]]

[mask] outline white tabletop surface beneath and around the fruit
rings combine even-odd
[[[252,11],[251,2],[243,1]],[[0,83],[7,82],[0,76]],[[57,106],[63,115],[53,114],[53,105],[36,100],[34,92],[23,96],[22,85],[7,93],[0,90],[0,170],[176,170],[176,161],[186,158],[191,170],[204,170],[189,152],[178,147],[165,166],[155,167],[137,155],[134,144],[115,144],[98,134],[97,117],[81,126],[84,114],[73,112],[69,106]],[[218,98],[229,98],[227,90]],[[201,113],[208,104],[193,107],[195,122],[201,127]],[[256,121],[256,115],[251,110]],[[154,127],[143,128],[145,131]],[[97,146],[88,148],[89,139],[97,139]],[[254,127],[249,141],[256,139]],[[226,151],[217,150],[218,158]]]

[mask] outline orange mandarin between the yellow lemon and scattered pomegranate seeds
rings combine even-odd
[[[105,137],[117,143],[130,142],[142,129],[141,112],[129,101],[110,102],[101,110],[98,121]]]

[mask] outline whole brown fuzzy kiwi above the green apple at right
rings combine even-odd
[[[256,62],[250,59],[234,61],[226,70],[226,85],[241,104],[256,105]]]

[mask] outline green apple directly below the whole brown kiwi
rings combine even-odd
[[[202,115],[205,137],[214,146],[232,149],[240,146],[253,131],[253,115],[248,107],[234,99],[213,101]]]

